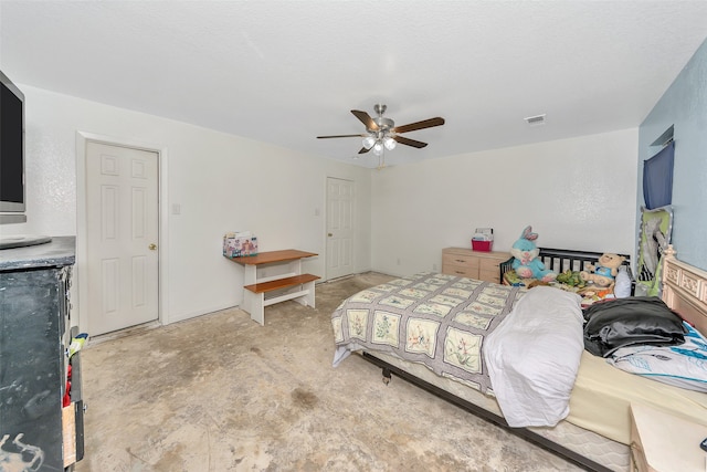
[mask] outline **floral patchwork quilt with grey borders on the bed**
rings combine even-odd
[[[367,289],[331,315],[334,365],[354,350],[386,352],[485,394],[490,379],[484,337],[524,293],[523,287],[431,272]]]

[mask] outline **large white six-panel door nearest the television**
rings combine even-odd
[[[92,336],[158,318],[158,155],[86,144]]]

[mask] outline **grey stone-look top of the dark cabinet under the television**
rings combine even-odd
[[[76,261],[76,237],[52,237],[44,244],[0,250],[0,271],[72,265]]]

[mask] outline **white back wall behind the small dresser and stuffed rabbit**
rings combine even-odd
[[[465,154],[373,171],[373,270],[441,269],[442,249],[492,227],[508,251],[538,245],[634,255],[637,128]]]

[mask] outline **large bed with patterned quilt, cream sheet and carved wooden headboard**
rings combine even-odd
[[[672,249],[666,252],[664,264],[663,301],[701,333],[707,333],[707,273],[678,261]],[[432,292],[431,296],[423,294],[425,289]],[[528,297],[538,289],[561,292],[434,273],[415,274],[371,287],[347,298],[333,314],[337,344],[335,365],[349,353],[360,354],[382,368],[384,381],[394,374],[588,470],[629,470],[631,402],[647,403],[707,426],[707,395],[704,392],[629,374],[583,348],[578,355],[571,395],[568,394],[568,411],[561,411],[560,407],[549,408],[552,426],[534,426],[529,421],[528,426],[517,427],[516,418],[509,422],[509,415],[504,415],[506,410],[500,408],[495,385],[486,375],[489,369],[481,346],[493,345],[485,336],[493,339],[494,333],[500,331],[499,326],[509,325],[503,321],[515,316],[515,307],[529,303],[524,298],[540,296]],[[466,297],[466,301],[457,306],[454,297]],[[411,306],[416,307],[416,312],[413,316],[405,315],[403,308]],[[424,316],[419,317],[421,314]],[[434,323],[450,317],[455,321]],[[471,334],[457,333],[460,323],[472,326]],[[437,332],[447,334],[446,340],[437,346],[442,357],[446,348],[439,347],[445,346],[444,343],[450,347],[446,361],[434,359],[434,342],[429,335],[434,326]],[[394,332],[403,334],[412,346],[412,358],[404,359],[397,350],[394,336],[391,336]],[[429,358],[433,360],[423,364]]]

